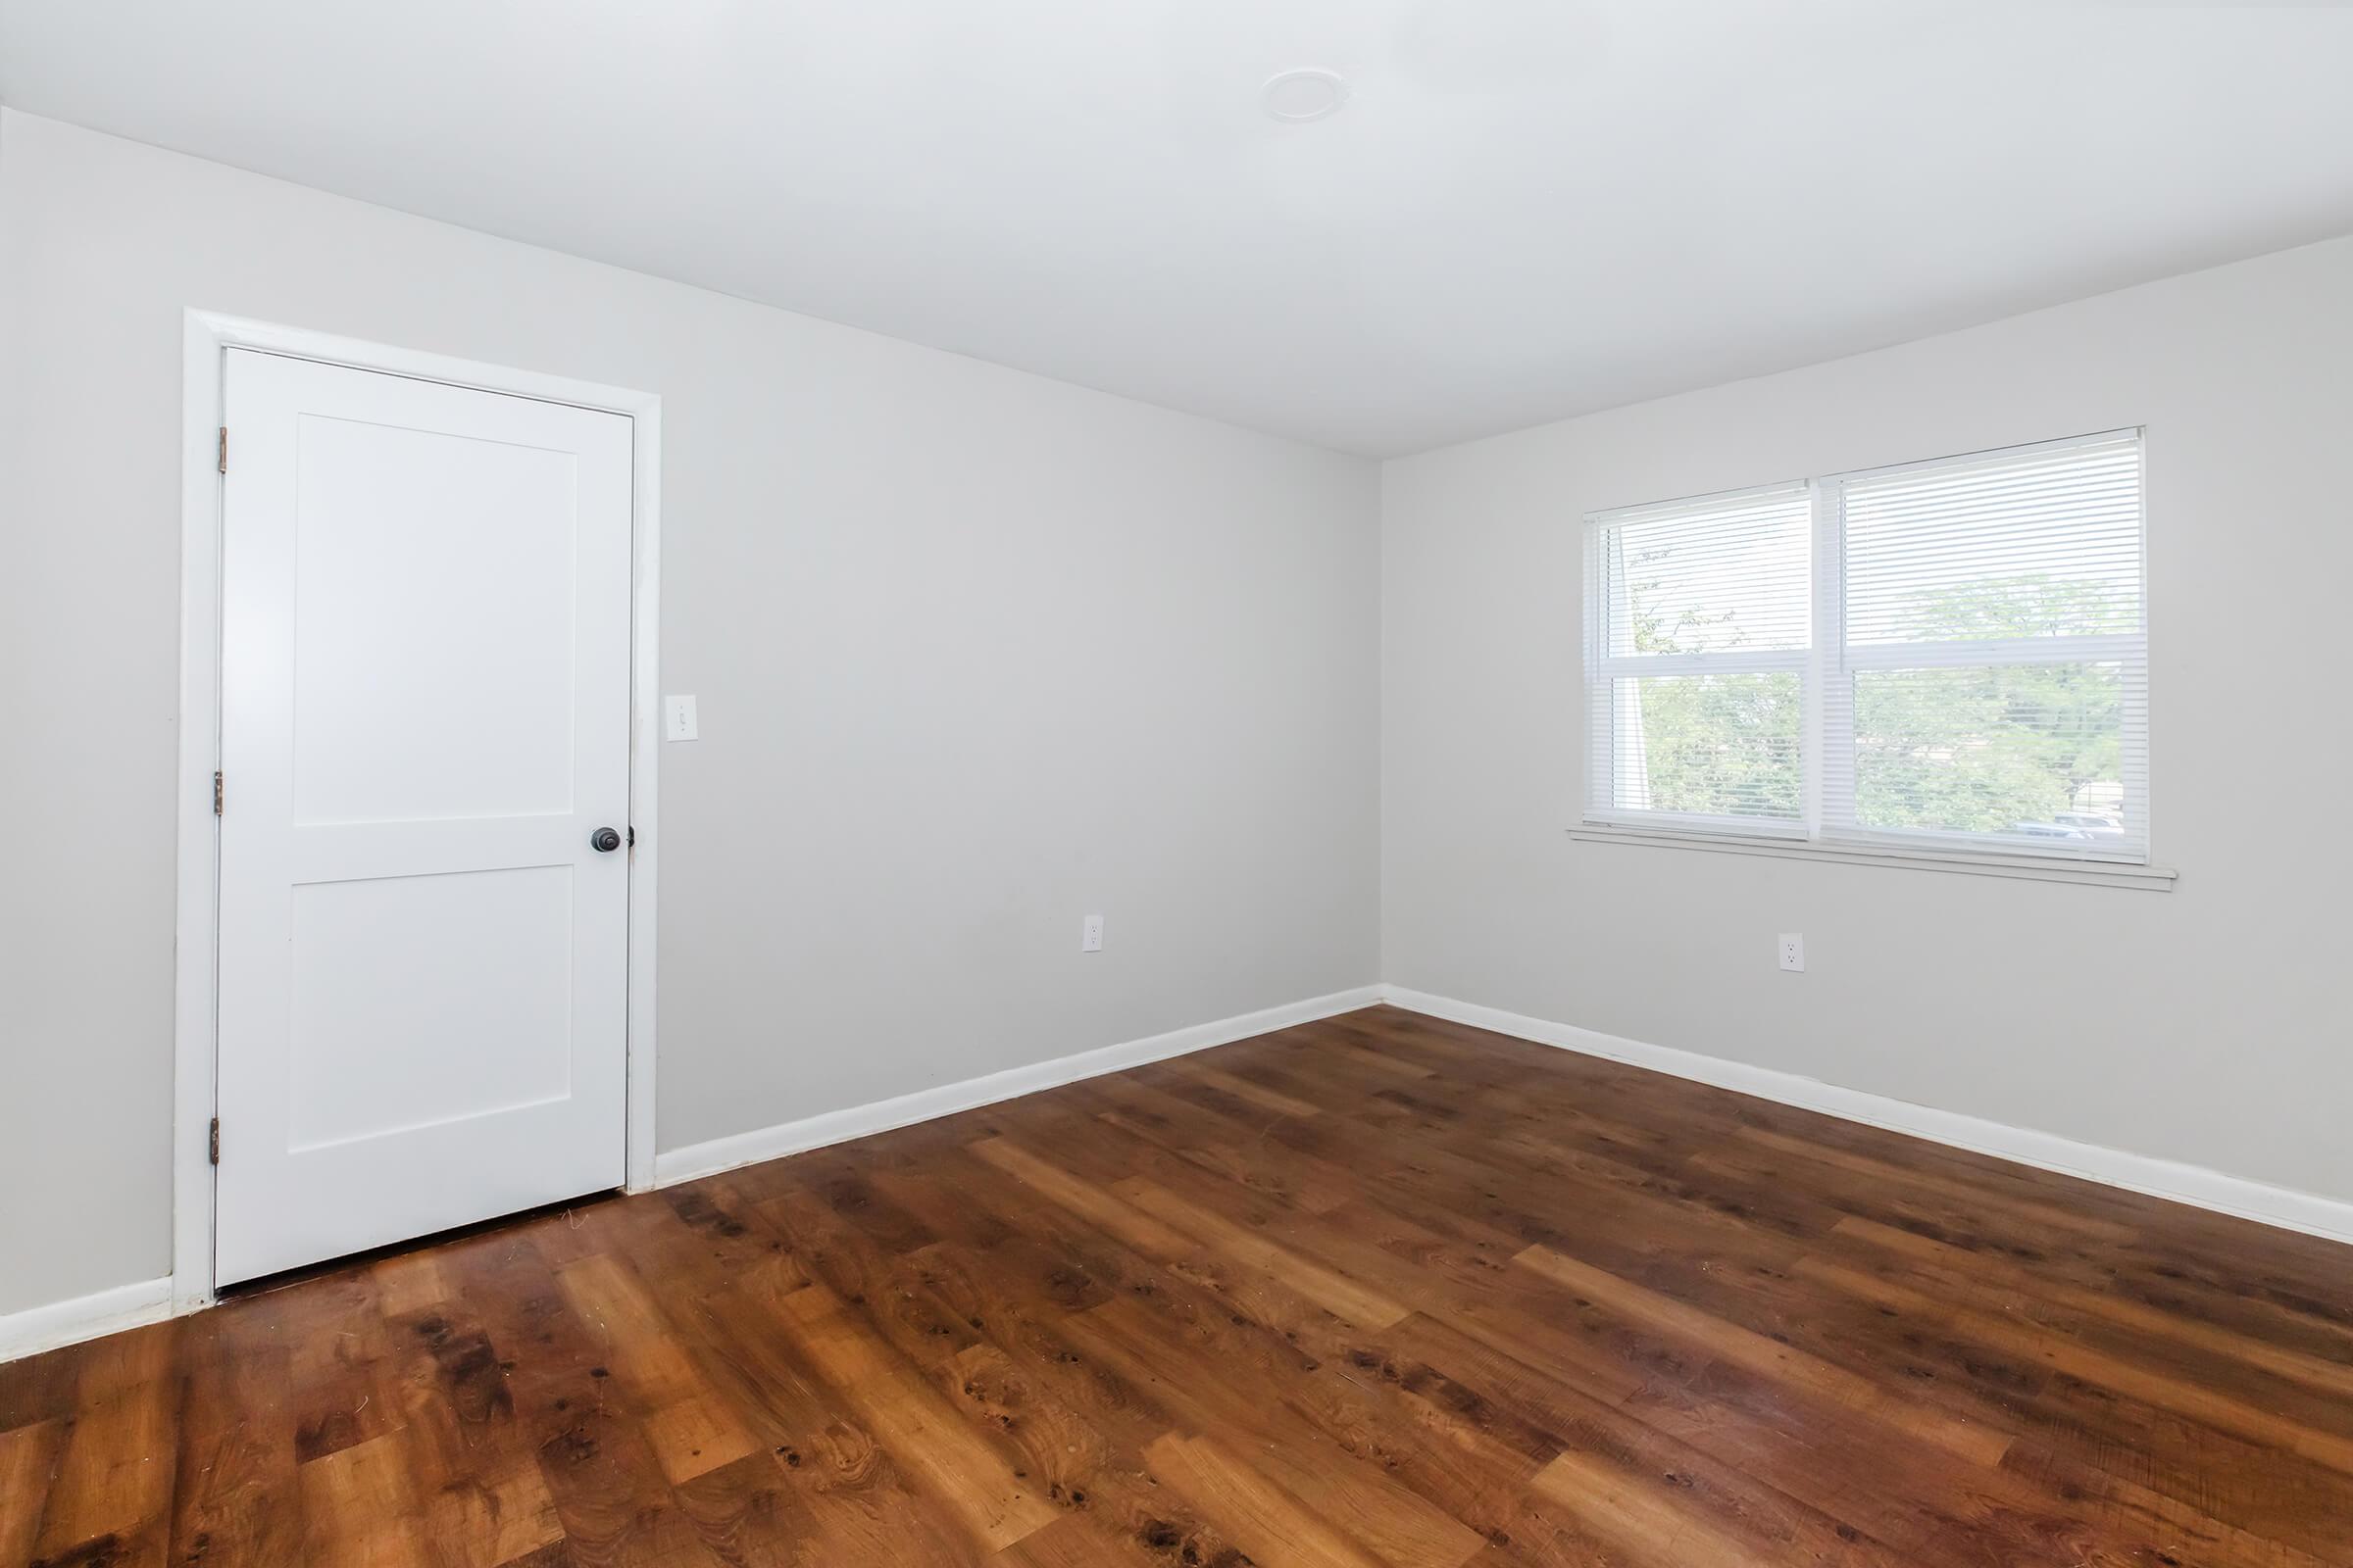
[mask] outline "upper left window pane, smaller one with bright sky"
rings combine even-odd
[[[1607,524],[1607,654],[1807,646],[1809,529],[1805,487],[1649,508]]]

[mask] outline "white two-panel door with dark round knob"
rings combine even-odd
[[[621,1185],[628,971],[631,421],[226,409],[219,1284]]]

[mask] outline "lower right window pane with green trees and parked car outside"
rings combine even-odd
[[[2127,844],[2125,670],[2047,663],[1854,677],[1854,820],[1998,832],[2054,851]]]

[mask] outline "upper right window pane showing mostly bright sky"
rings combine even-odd
[[[1847,480],[1847,642],[2141,630],[2141,444]]]

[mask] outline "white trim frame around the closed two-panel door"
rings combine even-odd
[[[179,943],[172,1025],[172,1309],[212,1302],[212,1117],[219,1065],[221,766],[221,371],[231,348],[445,381],[485,393],[624,414],[633,428],[628,823],[628,1190],[654,1185],[654,867],[661,851],[661,397],[442,355],[249,322],[186,315],[179,557]],[[235,430],[228,435],[235,461]],[[233,788],[233,785],[231,785]],[[233,799],[233,797],[231,797]],[[235,1128],[228,1128],[235,1138]]]

